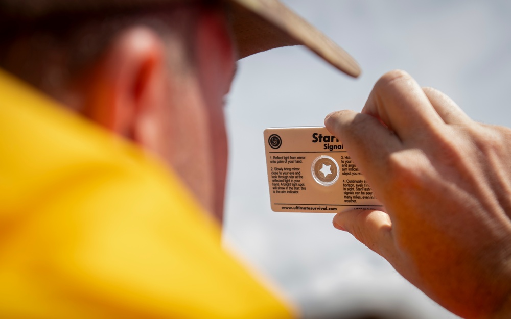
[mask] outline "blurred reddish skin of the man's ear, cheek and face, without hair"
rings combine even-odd
[[[123,30],[92,70],[75,81],[73,96],[81,96],[75,100],[83,105],[76,109],[92,121],[164,159],[221,221],[227,170],[224,96],[235,74],[236,51],[220,10],[200,12],[193,39],[193,70],[174,74],[164,39],[144,26]]]

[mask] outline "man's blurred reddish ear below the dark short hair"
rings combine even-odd
[[[84,114],[99,125],[152,149],[157,110],[166,99],[165,49],[146,27],[114,37],[86,77]]]

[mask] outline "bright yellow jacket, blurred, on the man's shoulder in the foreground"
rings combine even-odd
[[[178,179],[0,70],[1,318],[288,318]]]

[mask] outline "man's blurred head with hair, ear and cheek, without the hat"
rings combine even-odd
[[[57,15],[3,30],[1,67],[158,154],[221,219],[223,99],[237,54],[221,5]]]

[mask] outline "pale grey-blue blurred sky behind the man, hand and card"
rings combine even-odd
[[[404,69],[472,118],[511,126],[511,2],[284,0],[360,63],[352,79],[303,47],[240,61],[227,101],[230,167],[224,239],[308,317],[360,309],[456,318],[404,280],[332,214],[270,209],[263,130],[318,126],[360,111],[386,71]]]

